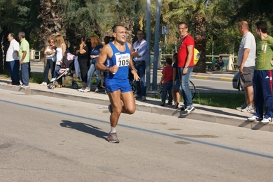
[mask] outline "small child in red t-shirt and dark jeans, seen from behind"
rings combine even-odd
[[[162,77],[159,85],[163,83],[163,90],[161,96],[161,106],[165,105],[166,96],[168,92],[168,105],[172,105],[172,59],[166,58],[166,66],[162,70]]]

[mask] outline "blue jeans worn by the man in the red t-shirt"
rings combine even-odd
[[[183,75],[183,67],[179,68],[178,75],[181,82],[182,96],[184,100],[184,105],[187,108],[193,107],[192,105],[192,92],[190,90],[190,77],[192,76],[193,66],[187,68],[187,74]]]

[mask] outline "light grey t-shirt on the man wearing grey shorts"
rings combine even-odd
[[[256,42],[253,34],[248,31],[248,33],[244,34],[240,44],[238,51],[238,66],[241,66],[244,49],[250,49],[248,58],[244,63],[244,67],[255,66],[255,57],[256,57]]]

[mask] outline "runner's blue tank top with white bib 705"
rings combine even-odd
[[[125,42],[125,51],[120,52],[112,42],[109,42],[110,47],[112,48],[113,55],[109,58],[109,67],[114,65],[118,66],[118,72],[115,74],[107,73],[105,79],[128,79],[129,75],[129,62],[130,62],[130,50]]]

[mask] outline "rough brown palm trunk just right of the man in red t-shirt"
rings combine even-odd
[[[200,53],[200,59],[196,66],[194,66],[194,72],[196,73],[206,73],[206,24],[205,17],[203,14],[197,14],[195,17],[194,25],[194,42],[195,48]]]

